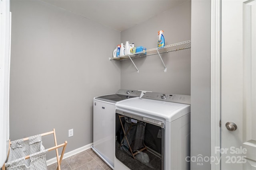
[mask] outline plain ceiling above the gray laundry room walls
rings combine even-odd
[[[117,31],[124,31],[188,0],[42,0]]]

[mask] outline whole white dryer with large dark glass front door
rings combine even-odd
[[[115,170],[190,169],[190,96],[146,92],[117,102],[115,108]],[[143,153],[131,155],[130,150],[135,154],[144,147]]]

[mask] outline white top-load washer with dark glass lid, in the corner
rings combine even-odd
[[[120,89],[116,94],[95,97],[93,100],[92,150],[112,169],[114,169],[115,104],[141,95],[141,91]]]

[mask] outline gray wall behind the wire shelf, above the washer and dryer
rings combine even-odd
[[[121,32],[121,42],[147,49],[157,47],[158,31],[164,30],[166,45],[191,39],[191,1]],[[121,88],[190,95],[190,49],[121,61]]]

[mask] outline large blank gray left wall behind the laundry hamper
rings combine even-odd
[[[93,97],[120,88],[120,62],[108,59],[120,32],[41,1],[11,0],[11,12],[10,139],[55,128],[66,152],[92,143]]]

